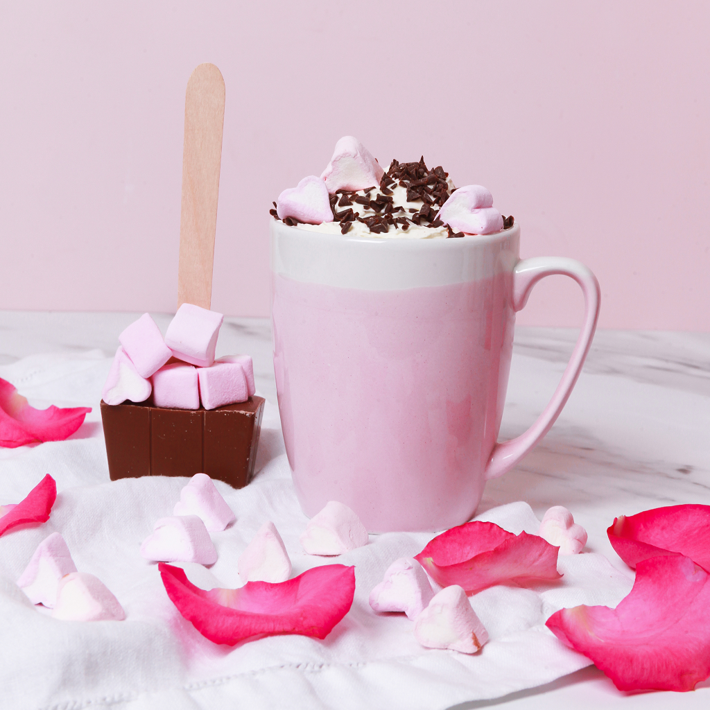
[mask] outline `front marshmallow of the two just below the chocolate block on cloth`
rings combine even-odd
[[[217,550],[197,515],[173,515],[156,521],[141,545],[141,557],[153,562],[217,562]]]

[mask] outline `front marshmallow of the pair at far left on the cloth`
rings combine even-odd
[[[70,572],[59,583],[52,616],[63,621],[123,621],[126,612],[98,577]]]

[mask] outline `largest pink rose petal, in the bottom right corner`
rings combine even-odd
[[[710,676],[709,579],[688,557],[645,559],[616,609],[561,609],[547,628],[619,690],[692,690]]]

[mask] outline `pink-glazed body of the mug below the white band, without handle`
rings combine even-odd
[[[506,396],[514,313],[496,294],[510,284],[373,291],[273,275],[279,409],[307,515],[336,498],[371,532],[469,518],[484,486],[471,467],[486,466]]]

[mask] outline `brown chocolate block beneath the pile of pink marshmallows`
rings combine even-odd
[[[102,401],[111,481],[203,473],[243,488],[254,474],[263,405],[262,397],[212,410]]]

